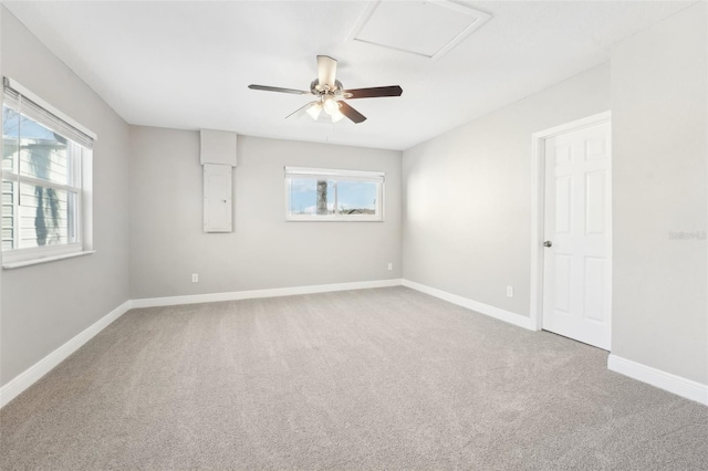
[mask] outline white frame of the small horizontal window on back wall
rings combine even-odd
[[[376,186],[376,212],[374,214],[339,214],[336,211],[327,214],[294,214],[290,212],[290,195],[292,179],[334,180],[334,181],[367,181]],[[386,174],[371,170],[346,170],[332,168],[285,167],[285,221],[308,222],[383,222]],[[335,188],[334,208],[337,207]]]

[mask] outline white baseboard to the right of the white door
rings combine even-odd
[[[610,354],[607,369],[708,406],[708,385]]]

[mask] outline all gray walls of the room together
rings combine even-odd
[[[528,315],[530,136],[610,109],[611,90],[613,353],[708,384],[707,244],[669,240],[706,231],[705,3],[616,45],[612,80],[582,73],[406,150],[403,170],[397,151],[240,136],[228,234],[201,232],[198,133],[128,127],[1,10],[3,74],[98,142],[97,253],[0,273],[0,385],[128,297],[403,275]],[[285,165],[386,171],[386,221],[285,222]]]

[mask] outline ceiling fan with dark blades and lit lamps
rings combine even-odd
[[[262,90],[264,92],[292,93],[295,95],[313,95],[317,97],[314,102],[308,103],[285,118],[302,116],[306,113],[316,121],[322,111],[324,111],[332,123],[336,123],[346,116],[356,124],[366,121],[366,116],[351,107],[345,100],[400,96],[403,93],[403,88],[398,85],[344,90],[342,82],[336,80],[336,60],[329,55],[317,55],[317,78],[310,84],[310,91],[280,88],[267,85],[249,85],[248,87],[251,90]]]

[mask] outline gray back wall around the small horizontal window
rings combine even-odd
[[[235,231],[204,233],[198,132],[131,142],[132,299],[400,278],[400,151],[239,136]],[[284,166],[385,171],[385,221],[285,222]]]

